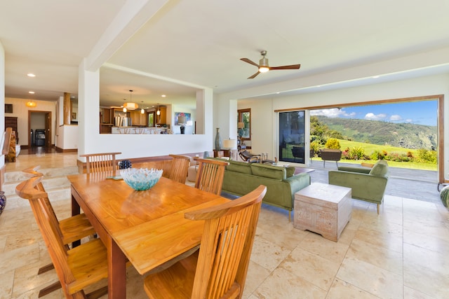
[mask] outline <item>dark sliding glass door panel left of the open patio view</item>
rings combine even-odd
[[[279,112],[279,161],[309,161],[309,111]]]

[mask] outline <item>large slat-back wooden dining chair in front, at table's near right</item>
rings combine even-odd
[[[149,274],[144,281],[149,298],[241,298],[262,198],[267,187],[225,204],[185,213],[204,221],[199,251]]]

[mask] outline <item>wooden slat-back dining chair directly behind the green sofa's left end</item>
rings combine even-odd
[[[229,162],[202,158],[194,158],[194,160],[198,163],[195,188],[220,195],[225,168]]]

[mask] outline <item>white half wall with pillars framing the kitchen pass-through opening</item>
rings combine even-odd
[[[79,144],[78,154],[121,152],[118,158],[142,158],[170,153],[197,153],[213,149],[213,95],[204,90],[197,105],[204,111],[204,134],[100,134],[99,71],[86,71],[85,61],[79,66]],[[175,112],[175,111],[173,111]],[[176,111],[177,112],[177,111]],[[83,160],[80,158],[80,160]]]

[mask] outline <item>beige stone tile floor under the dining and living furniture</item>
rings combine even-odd
[[[72,166],[76,160],[60,155],[30,155],[16,167]],[[69,199],[55,203],[60,217],[69,216],[69,207]],[[374,204],[353,200],[338,242],[297,230],[285,211],[263,206],[243,298],[449,298],[448,255],[449,212],[442,204],[387,195],[377,216]],[[48,262],[31,210],[4,211],[0,298],[37,298],[39,288],[57,279],[53,271],[36,275]],[[43,298],[62,297],[56,291]],[[146,298],[132,268],[128,298]]]

